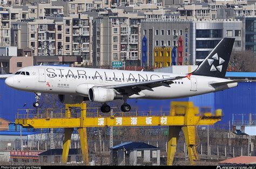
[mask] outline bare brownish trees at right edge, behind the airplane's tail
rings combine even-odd
[[[256,57],[252,51],[232,52],[228,70],[232,72],[256,72]]]

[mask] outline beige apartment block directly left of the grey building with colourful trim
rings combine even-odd
[[[93,64],[111,65],[125,61],[127,66],[140,65],[140,22],[137,13],[108,13],[93,23]]]

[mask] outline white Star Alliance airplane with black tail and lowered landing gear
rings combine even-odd
[[[223,38],[199,67],[190,74],[122,71],[82,67],[30,66],[5,80],[11,88],[35,93],[34,107],[41,93],[58,94],[65,104],[92,101],[103,103],[121,99],[123,112],[131,110],[129,98],[169,99],[212,93],[238,86],[241,80],[225,79],[234,38]]]

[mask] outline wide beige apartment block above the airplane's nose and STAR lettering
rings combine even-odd
[[[30,47],[33,56],[79,55],[91,62],[91,23],[87,15],[13,22],[11,37],[12,46]]]

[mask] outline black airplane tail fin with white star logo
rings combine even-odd
[[[233,44],[234,38],[223,38],[192,74],[225,78]]]

